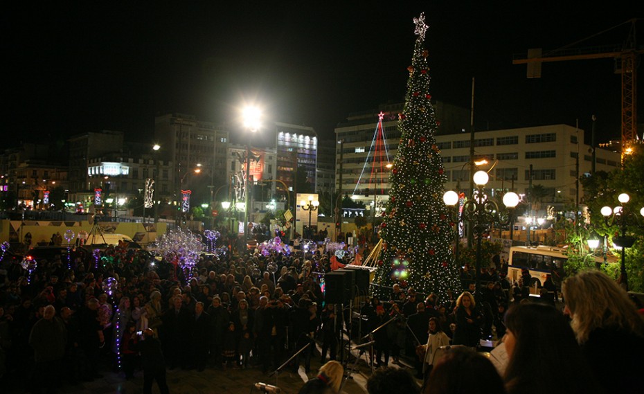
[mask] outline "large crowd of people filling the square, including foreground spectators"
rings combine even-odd
[[[57,256],[27,269],[3,265],[0,375],[39,393],[100,378],[100,365],[109,360],[125,379],[143,370],[145,393],[155,380],[167,393],[166,368],[256,367],[269,373],[317,341],[326,369],[312,380],[337,393],[342,367],[327,361],[337,359],[338,332],[351,330],[352,316],[323,303],[320,274],[331,270],[332,259],[319,251],[245,252],[203,254],[189,273],[147,251],[120,247],[100,256],[85,253],[85,260]],[[632,355],[644,350],[644,323],[607,276],[591,271],[564,282],[569,323],[550,298],[533,303],[523,289],[513,292],[502,269],[481,272],[486,280],[479,289],[469,271],[462,272],[464,291],[447,301],[399,285],[387,289],[388,296],[368,298],[359,308],[359,335],[374,341],[373,352],[368,349],[372,362],[389,371],[390,358],[399,366],[403,356],[413,360],[425,393],[465,392],[449,391],[469,384],[464,373],[473,374],[472,382],[482,373],[489,383],[468,393],[607,393],[615,386],[620,393],[635,392]],[[481,350],[481,339],[506,343],[505,373],[458,349]],[[314,348],[308,346],[288,368],[303,366],[310,373]],[[620,362],[607,363],[610,374],[591,373],[611,355]],[[401,376],[379,373],[368,390],[386,392],[377,390],[388,387],[388,379],[406,379]],[[483,389],[497,389],[499,382],[503,391]],[[316,384],[303,393],[322,393]]]

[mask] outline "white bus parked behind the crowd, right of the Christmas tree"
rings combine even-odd
[[[531,282],[530,293],[536,293],[536,287],[542,287],[546,281],[546,275],[551,275],[555,285],[560,288],[564,279],[566,261],[568,255],[566,249],[557,247],[511,247],[510,260],[508,261],[508,278],[515,283],[521,278],[521,271],[528,269]],[[534,289],[534,290],[533,290]]]

